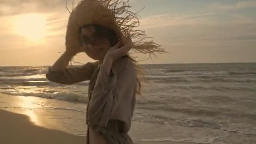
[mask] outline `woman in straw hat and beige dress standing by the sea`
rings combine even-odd
[[[126,9],[127,3],[118,7],[123,1],[82,0],[69,16],[66,51],[46,74],[48,80],[63,84],[90,80],[87,144],[133,144],[127,133],[140,82],[136,76],[136,60],[128,51],[133,48],[143,53],[165,52],[153,41],[144,41],[144,33],[133,30],[136,23],[127,24],[137,17]],[[124,13],[130,16],[122,19],[120,15]],[[138,37],[142,39],[132,43],[131,38]],[[80,52],[96,62],[67,67],[72,57]]]

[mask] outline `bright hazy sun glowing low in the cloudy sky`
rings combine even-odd
[[[31,42],[42,42],[46,35],[46,16],[37,13],[18,15],[13,21],[13,32]]]

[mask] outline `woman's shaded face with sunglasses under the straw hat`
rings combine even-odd
[[[94,60],[103,60],[110,48],[107,38],[100,38],[96,35],[94,27],[85,27],[81,29],[82,49]]]

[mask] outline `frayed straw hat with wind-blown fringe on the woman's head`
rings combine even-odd
[[[129,11],[129,0],[81,0],[70,13],[67,32],[66,49],[81,48],[79,29],[87,24],[98,24],[115,31],[117,38],[125,42],[128,37],[133,40],[133,51],[156,56],[155,53],[166,51],[147,37],[139,27],[137,13]],[[67,7],[67,5],[66,5]]]

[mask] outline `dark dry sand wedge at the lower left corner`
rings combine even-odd
[[[85,144],[84,136],[35,125],[27,115],[0,109],[1,144]]]

